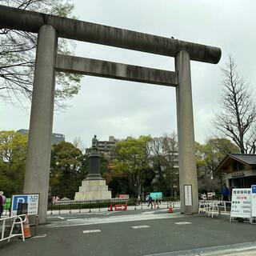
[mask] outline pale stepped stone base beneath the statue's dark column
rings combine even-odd
[[[74,195],[74,200],[102,200],[111,199],[111,191],[108,190],[105,179],[86,179],[79,186],[79,192]]]

